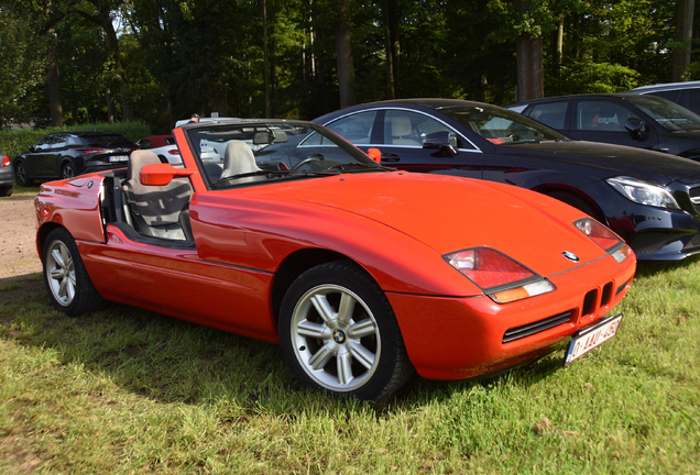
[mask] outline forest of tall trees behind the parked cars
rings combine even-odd
[[[0,0],[0,129],[700,78],[696,0]],[[518,92],[519,91],[519,92]]]

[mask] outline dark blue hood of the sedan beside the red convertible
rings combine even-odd
[[[568,141],[500,145],[500,155],[522,155],[586,166],[599,179],[631,176],[658,185],[683,178],[700,179],[700,164],[688,158],[643,148],[598,142]]]

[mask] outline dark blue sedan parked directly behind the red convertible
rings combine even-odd
[[[519,113],[462,100],[374,102],[315,122],[365,152],[379,148],[383,165],[501,181],[558,198],[612,228],[639,259],[700,253],[699,163],[572,141]],[[469,202],[445,206],[459,219]]]

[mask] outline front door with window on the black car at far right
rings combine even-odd
[[[645,123],[641,134],[633,134],[625,129],[628,119],[639,119],[639,114],[619,102],[579,99],[572,101],[571,125],[565,133],[578,140],[655,148],[658,137],[653,126]]]

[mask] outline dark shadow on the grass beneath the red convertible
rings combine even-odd
[[[0,338],[53,350],[63,365],[81,365],[119,387],[164,402],[223,399],[251,411],[265,407],[280,412],[298,411],[299,406],[357,407],[302,388],[274,344],[119,303],[68,317],[54,310],[41,274],[0,279]],[[545,356],[484,380],[441,383],[414,376],[390,398],[360,405],[381,417],[448,399],[474,385],[486,390],[507,382],[531,385],[559,369],[561,361],[561,355]]]

